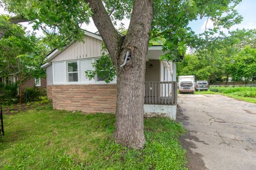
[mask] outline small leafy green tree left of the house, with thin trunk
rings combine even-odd
[[[45,77],[45,70],[41,65],[48,51],[40,39],[26,33],[17,24],[11,24],[0,40],[0,77],[18,77],[19,103],[22,99],[23,84],[30,78]]]

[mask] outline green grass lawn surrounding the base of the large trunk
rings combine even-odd
[[[145,119],[145,149],[134,150],[114,142],[114,123],[113,114],[51,108],[4,115],[0,169],[187,169],[181,124]]]

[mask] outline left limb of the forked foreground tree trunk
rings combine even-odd
[[[115,29],[102,1],[85,0],[85,2],[89,3],[93,12],[93,22],[99,30],[99,33],[108,49],[111,60],[114,62],[115,66],[117,66],[117,56],[121,47],[122,37]]]

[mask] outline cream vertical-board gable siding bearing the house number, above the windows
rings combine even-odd
[[[102,41],[93,37],[85,36],[83,41],[76,41],[63,52],[53,58],[52,62],[79,60],[101,56]]]

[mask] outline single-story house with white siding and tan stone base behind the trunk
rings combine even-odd
[[[75,42],[47,55],[47,96],[53,108],[85,113],[115,113],[116,79],[107,84],[102,78],[89,80],[86,70],[101,56],[101,36],[84,31],[83,42]],[[161,114],[175,120],[177,108],[176,65],[159,61],[162,46],[148,49],[145,75],[145,113]],[[134,106],[136,107],[136,106]]]

